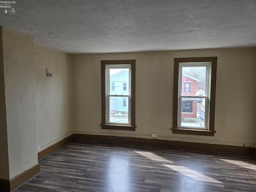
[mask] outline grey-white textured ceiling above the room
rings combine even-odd
[[[256,47],[256,0],[16,0],[0,26],[67,53]]]

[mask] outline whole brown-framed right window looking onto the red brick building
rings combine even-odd
[[[217,57],[174,59],[172,133],[214,136],[216,68]]]

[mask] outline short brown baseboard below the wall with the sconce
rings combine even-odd
[[[38,154],[37,154],[38,161],[41,160],[42,158],[45,158],[46,156],[50,155],[54,151],[58,150],[59,148],[61,148],[65,144],[71,142],[73,139],[74,139],[74,134],[72,134],[72,135],[60,140],[59,142],[51,145],[50,147],[38,152]]]

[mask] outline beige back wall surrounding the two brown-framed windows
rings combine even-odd
[[[172,134],[174,58],[218,57],[214,137]],[[136,59],[136,131],[102,130],[100,60]],[[152,66],[152,61],[158,62]],[[256,48],[73,55],[74,133],[188,142],[255,142]]]

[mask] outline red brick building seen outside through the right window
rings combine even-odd
[[[189,76],[187,74],[182,74],[182,96],[196,96],[196,82],[200,80]],[[184,118],[196,118],[197,115],[197,100],[192,98],[182,99],[182,114],[181,117]]]

